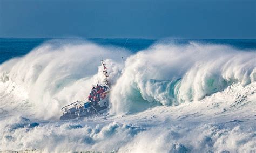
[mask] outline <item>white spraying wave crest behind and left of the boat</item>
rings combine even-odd
[[[102,70],[98,70],[101,57],[107,59],[110,80],[118,77],[122,62],[116,54],[120,54],[117,48],[103,48],[84,41],[45,43],[24,57],[0,66],[3,107],[20,110],[26,105],[24,110],[30,109],[30,115],[58,118],[62,106],[85,99],[91,85],[97,79],[103,80]],[[122,53],[123,57],[128,54]],[[13,102],[11,106],[10,102]]]

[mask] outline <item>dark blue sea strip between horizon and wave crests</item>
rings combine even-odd
[[[58,38],[59,39],[59,38]],[[0,38],[0,64],[14,57],[29,53],[33,48],[55,38]],[[154,43],[188,44],[190,41],[230,45],[241,50],[256,48],[256,39],[63,39],[65,41],[87,40],[103,46],[124,47],[132,52],[144,50]]]

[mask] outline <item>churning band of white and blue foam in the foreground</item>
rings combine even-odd
[[[216,123],[201,124],[196,128],[167,124],[150,129],[118,122],[97,126],[79,122],[44,125],[24,117],[0,123],[0,150],[251,152],[255,146],[253,132]]]

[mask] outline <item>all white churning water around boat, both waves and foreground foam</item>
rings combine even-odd
[[[122,58],[121,58],[122,57]],[[109,112],[60,121],[109,70]],[[0,65],[0,151],[255,152],[256,50],[50,40]]]

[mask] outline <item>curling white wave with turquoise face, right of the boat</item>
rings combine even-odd
[[[178,105],[234,83],[248,85],[256,80],[253,57],[253,51],[224,45],[156,44],[127,58],[112,89],[112,112],[138,112],[149,106],[145,103]]]

